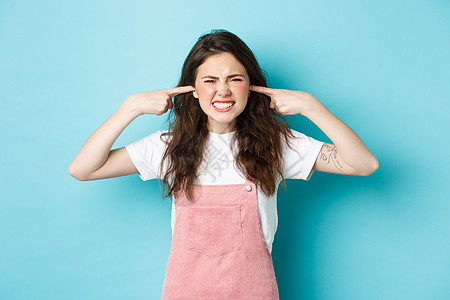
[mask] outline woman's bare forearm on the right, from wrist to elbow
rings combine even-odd
[[[378,167],[375,155],[361,138],[342,120],[336,117],[319,101],[305,114],[333,142],[339,157],[362,174],[371,173]]]

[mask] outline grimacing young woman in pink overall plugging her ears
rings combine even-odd
[[[169,129],[111,150],[135,118],[169,109]],[[289,129],[280,114],[306,116],[333,144]],[[163,179],[173,196],[163,299],[278,299],[271,247],[279,183],[308,180],[313,170],[366,176],[377,168],[358,135],[317,98],[268,88],[247,45],[217,30],[194,45],[178,87],[128,97],[69,173]]]

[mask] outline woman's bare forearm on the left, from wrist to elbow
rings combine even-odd
[[[87,139],[72,160],[69,173],[83,178],[99,169],[108,158],[111,147],[119,135],[138,115],[130,98],[126,99]]]

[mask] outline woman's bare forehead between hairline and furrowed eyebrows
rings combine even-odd
[[[229,74],[241,73],[247,76],[245,67],[231,53],[211,55],[197,69],[197,77],[212,75],[226,77]]]

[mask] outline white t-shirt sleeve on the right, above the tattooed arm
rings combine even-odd
[[[289,139],[292,149],[283,140],[284,178],[309,180],[314,172],[313,166],[324,142],[292,129],[291,132],[295,136],[294,139]]]

